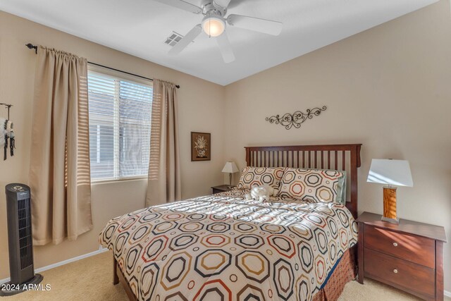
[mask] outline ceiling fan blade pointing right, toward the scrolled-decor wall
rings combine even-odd
[[[268,35],[280,35],[283,23],[241,15],[230,15],[227,23],[232,26],[263,32]]]

